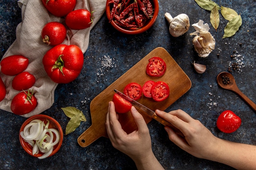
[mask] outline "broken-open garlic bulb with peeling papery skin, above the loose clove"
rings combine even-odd
[[[192,24],[195,28],[195,32],[190,35],[195,35],[192,42],[194,44],[195,51],[199,57],[207,57],[211,51],[215,49],[215,39],[209,32],[209,25],[204,24],[203,20],[199,20],[198,23]]]

